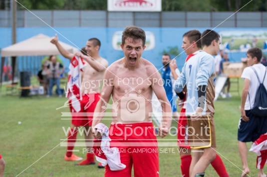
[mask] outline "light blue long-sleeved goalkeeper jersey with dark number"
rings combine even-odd
[[[215,60],[212,55],[197,51],[186,61],[179,78],[175,81],[174,89],[181,92],[187,87],[186,115],[195,113],[198,107],[198,87],[208,86],[208,80],[214,73]],[[203,115],[206,114],[206,102]]]

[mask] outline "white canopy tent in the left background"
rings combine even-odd
[[[1,49],[1,73],[0,84],[2,83],[3,65],[5,57],[12,57],[12,82],[14,78],[15,60],[17,56],[50,56],[60,55],[56,46],[50,43],[51,37],[44,34],[38,34],[24,41]],[[78,51],[66,43],[60,42],[64,49],[70,53]]]

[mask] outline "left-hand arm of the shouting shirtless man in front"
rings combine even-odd
[[[107,81],[105,84],[103,84],[102,93],[100,96],[100,99],[96,105],[93,121],[92,121],[92,128],[94,130],[95,125],[100,123],[101,119],[103,118],[103,114],[107,108],[106,103],[109,102],[112,90],[113,90],[113,78],[114,75],[112,72],[109,71],[110,68],[108,68],[104,75],[104,81]]]

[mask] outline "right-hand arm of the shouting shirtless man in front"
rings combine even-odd
[[[153,66],[151,67],[152,72],[154,73],[151,76],[151,79],[153,81],[160,81],[160,82],[153,82],[152,84],[152,89],[155,92],[157,98],[160,100],[161,102],[161,108],[162,108],[162,121],[161,121],[161,125],[159,127],[159,131],[160,131],[160,136],[163,138],[166,135],[168,135],[169,132],[169,128],[171,126],[171,122],[172,122],[172,108],[171,108],[171,104],[167,98],[165,89],[163,87],[163,83],[162,83],[162,79],[160,77],[159,72],[157,71],[157,69]]]

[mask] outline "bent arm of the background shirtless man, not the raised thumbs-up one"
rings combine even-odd
[[[104,71],[107,68],[107,61],[106,60],[101,60],[100,62],[97,62],[95,59],[93,59],[90,56],[83,55],[80,52],[77,52],[75,55],[81,56],[85,61],[89,63],[89,65],[95,69],[98,72]]]

